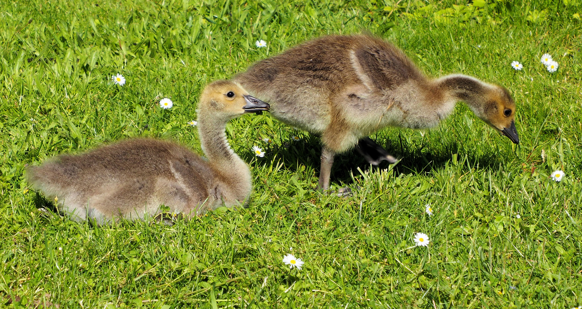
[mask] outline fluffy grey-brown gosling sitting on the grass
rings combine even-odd
[[[237,83],[208,85],[198,104],[198,132],[208,160],[172,142],[129,139],[76,156],[63,154],[27,168],[33,188],[76,221],[143,220],[165,205],[191,218],[242,205],[251,192],[249,167],[226,141],[226,122],[268,110]]]

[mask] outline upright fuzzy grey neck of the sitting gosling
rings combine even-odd
[[[214,119],[211,115],[198,117],[200,145],[209,163],[221,174],[224,181],[240,184],[250,181],[249,166],[230,149],[226,141],[226,122]]]

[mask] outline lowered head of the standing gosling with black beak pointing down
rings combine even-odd
[[[481,119],[513,143],[519,144],[519,135],[515,128],[515,103],[508,90],[493,86],[488,89],[484,99]]]

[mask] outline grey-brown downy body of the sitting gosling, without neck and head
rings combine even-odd
[[[220,199],[208,162],[172,142],[129,139],[30,167],[29,182],[66,205],[73,219],[144,219],[159,205],[198,213]],[[207,205],[204,205],[206,202]],[[123,205],[123,207],[119,207]]]

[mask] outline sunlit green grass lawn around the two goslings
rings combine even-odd
[[[487,2],[1,2],[0,307],[578,306],[582,6]],[[38,212],[46,201],[27,187],[26,164],[133,136],[200,153],[186,122],[206,83],[309,38],[363,30],[429,75],[508,87],[520,145],[460,104],[430,131],[372,136],[403,157],[396,166],[339,156],[333,184],[361,189],[337,198],[314,190],[317,138],[246,116],[227,128],[254,177],[246,208],[172,227],[95,227]],[[260,39],[267,48],[254,47]],[[558,72],[540,64],[545,52]],[[109,81],[116,73],[125,86]],[[170,110],[157,106],[163,96]],[[556,169],[561,182],[549,179]],[[419,231],[427,248],[411,247]],[[289,252],[306,262],[301,271],[282,264]]]

